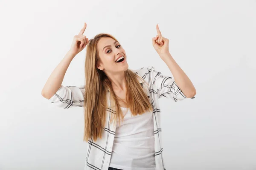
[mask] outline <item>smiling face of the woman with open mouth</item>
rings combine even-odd
[[[128,69],[125,50],[119,42],[110,37],[102,37],[98,42],[97,50],[101,59],[101,62],[97,66],[98,69],[105,73],[123,72]],[[122,56],[124,57],[124,61],[116,62]]]

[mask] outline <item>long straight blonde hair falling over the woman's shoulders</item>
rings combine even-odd
[[[121,99],[113,92],[111,80],[104,71],[97,68],[97,62],[100,61],[97,51],[97,44],[102,37],[111,37],[110,34],[98,34],[87,44],[85,58],[85,95],[84,95],[84,141],[93,137],[95,141],[98,137],[102,139],[102,130],[105,127],[106,111],[109,111],[107,105],[107,93],[111,96],[111,115],[116,121],[118,117],[123,120],[122,111],[118,101]],[[117,41],[117,40],[116,40]],[[118,42],[118,41],[117,41]],[[153,111],[151,102],[145,94],[137,78],[142,79],[130,69],[125,71],[126,78],[126,103],[132,115],[143,114],[146,111]],[[112,102],[113,101],[113,102]],[[112,104],[113,103],[113,104]]]

